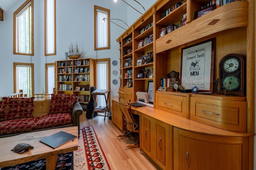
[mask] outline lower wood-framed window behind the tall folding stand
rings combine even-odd
[[[110,89],[110,59],[96,60],[96,85],[96,89]],[[97,106],[106,106],[103,95],[98,95]]]

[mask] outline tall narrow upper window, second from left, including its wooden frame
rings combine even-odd
[[[56,0],[44,0],[44,53],[56,55]]]

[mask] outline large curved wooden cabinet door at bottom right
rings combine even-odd
[[[219,137],[174,128],[174,169],[247,169],[243,160],[248,160],[247,145],[248,137]]]

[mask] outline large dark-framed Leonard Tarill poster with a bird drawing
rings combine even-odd
[[[215,38],[182,48],[181,86],[212,92]]]

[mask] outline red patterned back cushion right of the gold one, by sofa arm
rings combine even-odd
[[[71,113],[74,94],[52,94],[48,114]]]

